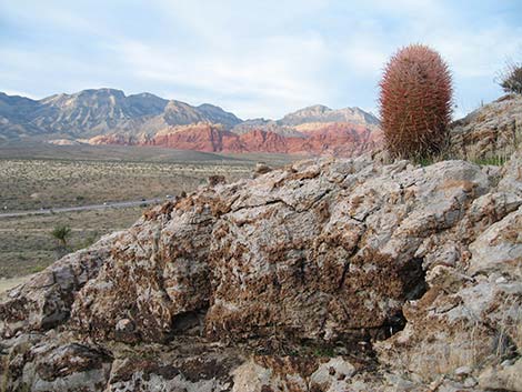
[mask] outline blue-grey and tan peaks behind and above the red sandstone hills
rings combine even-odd
[[[270,131],[287,138],[305,138],[298,129],[321,129],[327,123],[369,127],[378,124],[375,117],[359,108],[332,110],[314,104],[273,121],[254,119],[243,121],[222,108],[202,103],[167,100],[149,92],[126,96],[110,88],[86,89],[60,93],[33,101],[22,97],[0,94],[0,137],[20,139],[21,135],[44,135],[61,139],[93,138],[112,133],[137,135],[154,134],[170,125],[210,122],[222,124],[227,131],[243,134],[252,130]],[[57,134],[60,133],[60,134]]]

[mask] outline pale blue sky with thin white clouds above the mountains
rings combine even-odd
[[[522,60],[522,1],[0,0],[0,91],[111,87],[241,118],[375,111],[387,59],[411,42],[449,62],[460,115],[498,98],[495,73]]]

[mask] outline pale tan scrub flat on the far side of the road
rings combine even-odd
[[[232,181],[251,167],[66,160],[0,160],[0,209],[32,210],[164,198],[192,191],[212,174]]]

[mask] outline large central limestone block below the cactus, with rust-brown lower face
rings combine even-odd
[[[362,339],[399,328],[402,304],[424,289],[419,247],[456,225],[490,183],[460,161],[369,163],[361,180],[333,181],[358,163],[271,172],[239,195],[213,230],[210,335]]]

